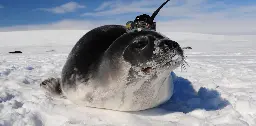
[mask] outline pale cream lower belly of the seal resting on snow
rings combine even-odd
[[[125,82],[110,81],[107,86],[97,87],[91,81],[89,84],[80,84],[76,91],[66,92],[66,96],[76,104],[88,107],[105,108],[118,111],[138,111],[153,108],[166,102],[173,94],[170,72],[163,72],[148,82],[126,84]]]

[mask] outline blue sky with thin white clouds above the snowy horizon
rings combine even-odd
[[[88,29],[125,24],[165,0],[1,0],[0,30]],[[171,0],[156,18],[176,32],[256,33],[255,0]]]

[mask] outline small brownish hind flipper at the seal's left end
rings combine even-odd
[[[60,78],[48,78],[40,83],[40,87],[52,95],[61,95]]]

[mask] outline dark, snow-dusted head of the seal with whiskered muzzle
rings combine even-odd
[[[124,60],[131,64],[130,76],[138,77],[172,71],[183,64],[184,53],[177,42],[157,32],[144,33],[134,37],[123,52]]]

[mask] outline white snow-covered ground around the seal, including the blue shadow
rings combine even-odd
[[[146,111],[118,112],[48,97],[39,83],[59,77],[83,30],[0,32],[0,126],[256,125],[256,36],[164,32],[191,46],[186,70],[171,73],[174,95]],[[22,54],[9,54],[10,51]]]

